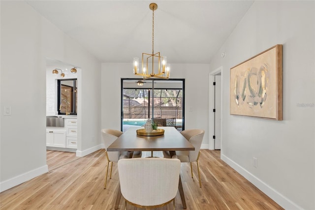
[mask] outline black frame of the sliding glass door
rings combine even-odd
[[[123,131],[123,127],[124,127],[124,81],[127,80],[132,80],[132,81],[136,81],[136,80],[143,80],[141,78],[121,78],[121,131]],[[143,81],[152,81],[152,88],[149,88],[149,90],[153,90],[153,94],[154,94],[154,81],[161,81],[161,79],[155,79],[155,78],[150,78],[150,79],[146,79]],[[182,81],[182,130],[185,130],[185,79],[167,79],[167,80],[163,80],[163,81]],[[130,88],[131,89],[131,88]],[[139,89],[143,89],[140,88]],[[147,88],[146,88],[147,89]],[[161,88],[158,88],[159,90]],[[169,89],[171,90],[171,88],[165,88],[166,90]],[[150,91],[151,92],[151,91]],[[150,94],[150,93],[149,93]],[[150,101],[150,95],[149,95],[149,101]],[[154,95],[152,96],[152,99],[154,99]],[[154,102],[154,100],[153,100]],[[149,103],[149,112],[150,112],[150,103]],[[150,116],[154,116],[154,103],[152,106],[152,113],[150,113]]]

